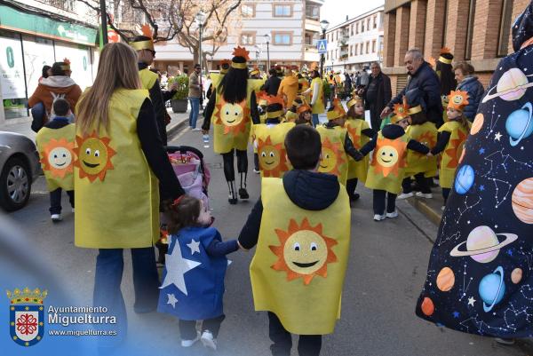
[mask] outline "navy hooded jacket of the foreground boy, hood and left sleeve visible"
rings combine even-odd
[[[340,191],[336,176],[309,170],[286,172],[283,175],[283,187],[291,202],[301,209],[314,211],[328,208]],[[244,249],[251,249],[258,243],[262,216],[263,203],[259,197],[239,234],[238,240]]]

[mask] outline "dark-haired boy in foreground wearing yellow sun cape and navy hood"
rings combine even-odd
[[[238,241],[243,249],[257,245],[251,288],[255,310],[268,312],[272,353],[289,355],[297,334],[298,352],[317,355],[340,317],[350,207],[338,179],[317,172],[322,144],[314,128],[295,126],[285,146],[294,169],[263,178]]]

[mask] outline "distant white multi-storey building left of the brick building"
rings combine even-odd
[[[383,54],[383,6],[328,29],[324,67],[353,72],[370,63],[381,63]],[[347,16],[346,16],[347,18]]]

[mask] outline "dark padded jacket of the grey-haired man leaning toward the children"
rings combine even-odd
[[[402,103],[403,95],[414,88],[424,92],[427,119],[440,126],[442,124],[441,83],[437,74],[426,61],[422,63],[415,74],[409,76],[405,88],[387,104],[387,107],[392,109],[394,104]]]

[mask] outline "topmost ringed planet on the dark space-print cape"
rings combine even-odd
[[[481,99],[481,103],[495,98],[500,98],[505,101],[513,101],[521,99],[526,93],[526,90],[533,86],[533,83],[528,82],[528,76],[518,68],[511,68],[507,70],[497,81],[496,86],[487,91],[487,95]],[[496,91],[493,91],[496,89]],[[491,91],[493,91],[491,93]]]

